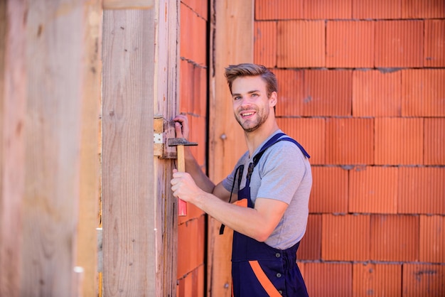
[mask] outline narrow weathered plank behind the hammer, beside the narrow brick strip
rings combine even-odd
[[[156,54],[154,112],[166,119],[165,137],[172,135],[171,119],[178,114],[179,84],[179,28],[178,18],[180,1],[156,1]],[[166,142],[166,141],[165,141]],[[164,154],[173,156],[176,150],[164,148]],[[172,159],[154,159],[154,195],[156,202],[156,254],[159,263],[156,266],[158,295],[176,296],[177,261],[178,261],[178,215],[177,199],[173,198],[170,188]]]

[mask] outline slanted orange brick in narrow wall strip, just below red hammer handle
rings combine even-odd
[[[178,279],[204,264],[205,216],[178,226]]]

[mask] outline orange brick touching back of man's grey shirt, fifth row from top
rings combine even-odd
[[[348,212],[348,171],[341,167],[312,166],[309,212]]]

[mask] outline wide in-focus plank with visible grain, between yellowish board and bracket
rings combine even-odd
[[[154,16],[154,9],[104,11],[104,296],[156,292]]]

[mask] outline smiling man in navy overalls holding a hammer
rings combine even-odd
[[[270,70],[230,65],[225,77],[248,150],[215,185],[187,149],[187,173],[173,171],[171,190],[234,230],[232,296],[307,296],[296,250],[309,214],[309,155],[279,129],[277,79]],[[187,118],[174,121],[177,136],[187,138]]]

